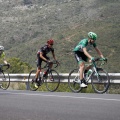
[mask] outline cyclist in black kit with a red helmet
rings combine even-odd
[[[52,56],[54,60],[56,60],[55,54],[54,54],[54,48],[53,48],[54,40],[50,39],[47,41],[47,44],[41,47],[37,52],[37,72],[35,76],[35,82],[38,83],[38,75],[41,71],[41,64],[42,61],[49,62],[50,67],[52,67],[52,63],[50,62],[50,58],[47,56],[49,52],[52,53]],[[57,60],[56,60],[57,61]],[[37,88],[39,84],[35,84],[35,87]]]

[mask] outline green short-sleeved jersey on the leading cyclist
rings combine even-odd
[[[96,43],[93,43],[93,44],[88,43],[88,39],[86,38],[86,39],[81,40],[81,41],[78,43],[78,45],[73,49],[73,51],[74,51],[74,52],[76,52],[76,51],[83,52],[83,48],[85,48],[85,47],[86,47],[87,50],[89,51],[89,48],[90,48],[91,46],[96,47],[97,45],[96,45]]]

